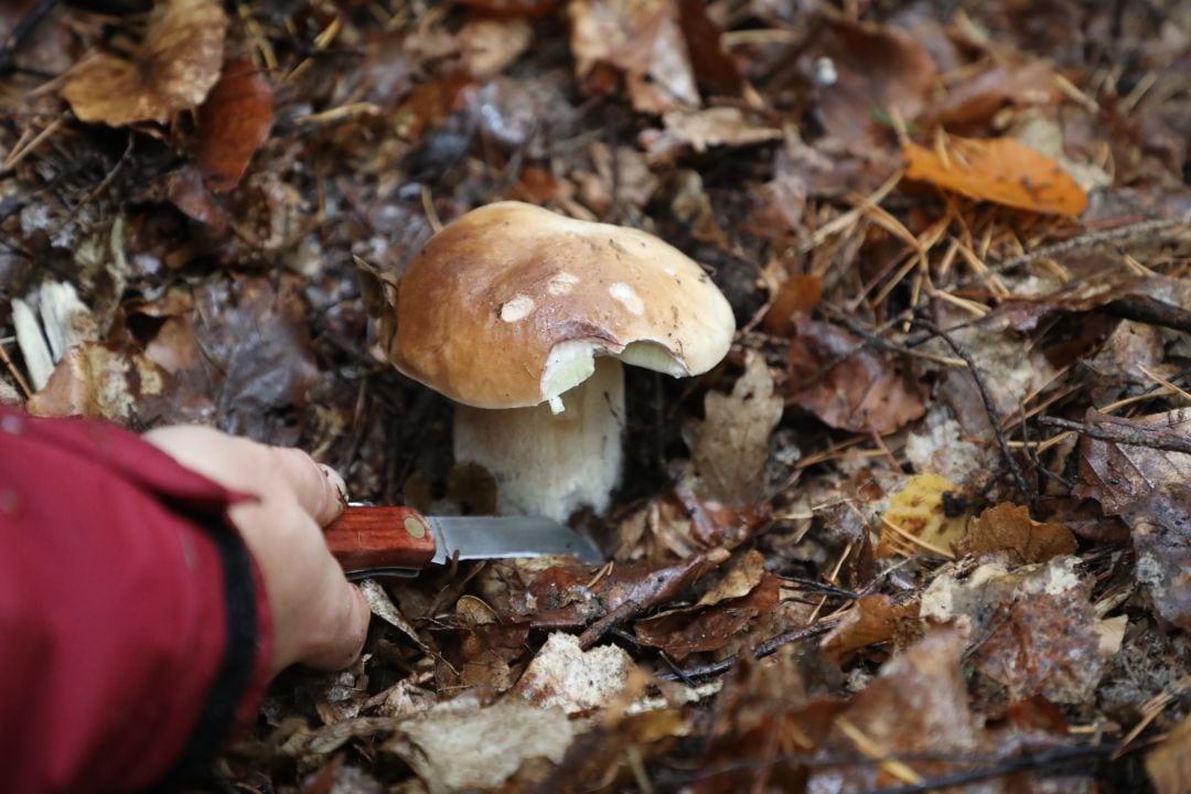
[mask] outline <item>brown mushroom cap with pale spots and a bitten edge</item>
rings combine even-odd
[[[636,229],[519,201],[435,235],[398,286],[380,340],[403,373],[456,402],[517,408],[582,382],[593,357],[674,376],[728,352],[736,320],[703,269]]]

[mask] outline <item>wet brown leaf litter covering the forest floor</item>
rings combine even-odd
[[[1185,790],[1178,4],[160,0],[17,36],[32,5],[0,11],[6,401],[463,512],[492,484],[366,300],[438,224],[646,229],[740,329],[630,374],[621,489],[574,519],[606,565],[370,582],[364,657],[279,677],[212,790]]]

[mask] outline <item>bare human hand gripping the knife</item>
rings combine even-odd
[[[351,664],[368,631],[368,604],[349,584],[322,527],[343,511],[343,480],[297,449],[267,446],[210,427],[152,430],[144,439],[186,468],[256,500],[233,505],[273,612],[273,674],[294,663]]]

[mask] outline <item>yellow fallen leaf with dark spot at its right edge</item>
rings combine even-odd
[[[959,488],[937,474],[910,477],[890,499],[877,556],[915,556],[925,550],[949,557],[952,544],[967,531],[967,512],[953,514],[948,507],[948,500],[959,495]]]

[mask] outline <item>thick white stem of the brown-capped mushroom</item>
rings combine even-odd
[[[498,511],[565,521],[581,505],[607,509],[621,476],[624,369],[596,360],[596,371],[532,408],[455,406],[455,461],[479,463],[497,481]]]

